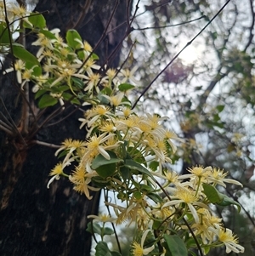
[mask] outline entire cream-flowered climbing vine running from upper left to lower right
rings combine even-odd
[[[5,31],[3,2],[0,3],[1,26]],[[209,207],[213,203],[240,208],[219,192],[218,186],[241,183],[227,179],[223,170],[212,167],[190,168],[190,174],[185,175],[168,169],[177,151],[175,143],[184,140],[164,127],[167,117],[139,115],[132,110],[128,91],[137,83],[133,77],[135,68],[127,71],[100,67],[93,48],[82,41],[77,31],[67,31],[64,40],[58,29],[48,31],[42,15],[30,14],[14,4],[8,4],[8,11],[8,20],[23,19],[19,31],[27,28],[37,33],[32,45],[38,51],[33,56],[25,48],[12,45],[3,33],[1,50],[13,47],[19,59],[5,72],[16,72],[21,89],[26,82],[34,84],[32,91],[40,108],[58,103],[63,107],[67,103],[79,105],[80,109],[82,105],[91,105],[79,119],[80,128],[87,129],[87,138],[65,139],[56,151],[56,156],[65,156],[64,160],[49,174],[48,187],[64,176],[75,191],[88,199],[93,198],[94,191],[103,189],[106,193],[112,191],[121,201],[113,198],[110,202],[105,196],[105,206],[115,216],[88,216],[93,219],[88,230],[98,232],[102,238],[96,247],[97,255],[105,252],[105,248],[111,254],[104,242],[104,236],[113,232],[106,229],[107,222],[135,224],[135,256],[174,256],[176,247],[178,255],[188,255],[194,248],[206,254],[209,249],[223,245],[226,253],[243,253],[244,247],[238,244],[236,236],[224,228],[222,220]],[[37,19],[33,15],[38,15]],[[14,26],[11,31],[15,31]]]

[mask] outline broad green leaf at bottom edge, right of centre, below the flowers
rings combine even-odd
[[[188,250],[184,244],[184,241],[177,235],[164,235],[166,241],[166,249],[172,256],[188,256]]]

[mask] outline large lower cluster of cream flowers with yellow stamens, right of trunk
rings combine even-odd
[[[116,97],[120,94],[116,93]],[[57,151],[57,154],[65,151],[64,162],[68,156],[78,163],[69,176],[75,190],[89,199],[90,192],[99,188],[116,193],[121,204],[105,201],[116,215],[110,222],[135,223],[142,232],[141,242],[133,241],[133,255],[156,253],[159,242],[163,251],[170,250],[166,240],[173,234],[182,239],[179,246],[188,250],[197,246],[196,241],[203,253],[221,245],[225,245],[226,253],[243,253],[244,247],[209,208],[210,203],[239,207],[216,187],[241,183],[227,179],[223,170],[212,167],[190,168],[190,174],[184,175],[167,170],[167,163],[171,163],[176,151],[174,140],[183,140],[162,126],[166,117],[139,116],[123,106],[121,100],[110,107],[110,98],[105,97],[107,105],[94,105],[80,119],[81,128],[88,129],[88,139],[84,142],[68,139]],[[91,218],[99,221],[97,216]],[[150,230],[156,231],[152,244],[150,241],[150,246],[144,247]]]

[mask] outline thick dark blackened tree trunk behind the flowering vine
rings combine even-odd
[[[126,1],[40,0],[36,11],[43,12],[49,30],[58,27],[62,35],[71,28],[79,31],[83,39],[97,46],[101,65],[118,64],[127,28]],[[107,24],[111,32],[104,34]],[[27,37],[27,45],[34,39]],[[3,69],[7,67],[6,61]],[[66,108],[33,137],[31,124],[28,134],[20,134],[22,97],[14,76],[0,75],[0,120],[7,119],[15,127],[13,134],[0,130],[0,255],[89,255],[87,215],[98,212],[99,193],[89,201],[72,190],[68,179],[54,182],[48,190],[49,171],[58,162],[55,149],[32,143],[37,139],[60,145],[67,138],[85,139],[77,121],[82,113],[75,111],[59,122],[75,110]],[[51,113],[45,111],[41,120]]]

